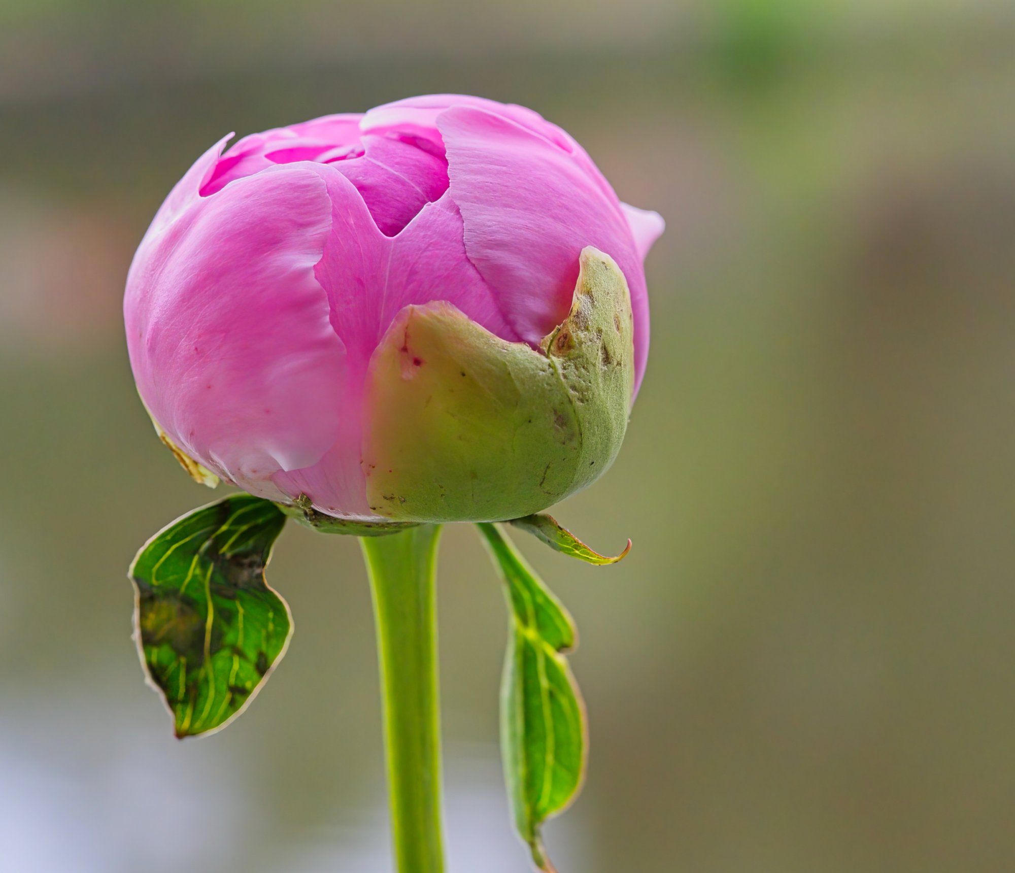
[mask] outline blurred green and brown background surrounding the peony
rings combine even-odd
[[[296,634],[178,743],[125,577],[212,494],[122,337],[161,198],[240,135],[399,96],[527,104],[669,221],[624,450],[522,543],[583,643],[562,873],[1015,869],[1015,6],[1003,0],[0,0],[0,870],[382,873],[357,544],[294,527]],[[505,614],[447,530],[452,873],[521,873]]]

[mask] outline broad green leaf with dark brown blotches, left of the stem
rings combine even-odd
[[[134,558],[141,662],[177,737],[223,727],[285,653],[289,607],[264,579],[284,525],[270,500],[232,494],[177,519]]]

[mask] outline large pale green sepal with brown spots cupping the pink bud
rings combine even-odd
[[[408,306],[370,358],[363,472],[392,521],[502,521],[544,510],[613,462],[634,385],[630,292],[583,250],[568,317],[539,350],[444,301]]]

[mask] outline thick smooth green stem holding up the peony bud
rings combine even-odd
[[[436,525],[363,537],[374,592],[398,873],[442,873]]]

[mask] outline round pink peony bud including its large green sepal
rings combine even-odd
[[[138,391],[193,473],[438,522],[538,512],[609,466],[663,221],[570,136],[431,95],[228,139],[158,210],[124,304]]]

